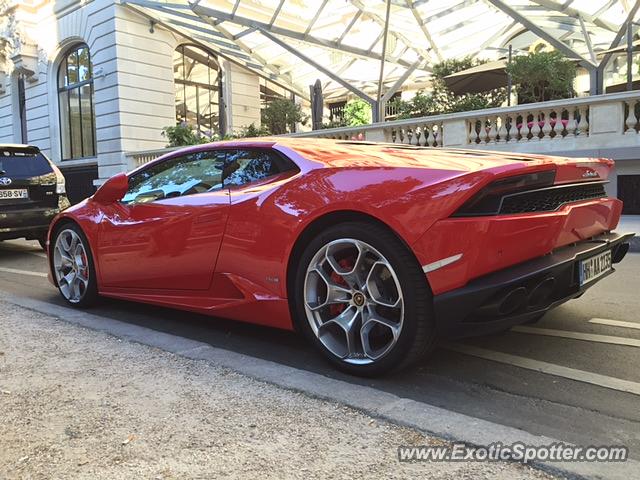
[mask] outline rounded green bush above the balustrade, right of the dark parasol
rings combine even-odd
[[[558,51],[515,57],[507,66],[519,103],[545,102],[574,95],[576,65]]]

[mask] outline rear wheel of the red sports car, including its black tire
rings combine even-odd
[[[348,222],[304,249],[293,283],[297,326],[335,367],[377,376],[432,348],[432,293],[420,265],[386,228]]]

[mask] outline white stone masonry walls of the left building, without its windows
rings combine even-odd
[[[151,32],[147,18],[112,0],[56,0],[24,15],[25,32],[39,50],[36,81],[27,82],[25,92],[29,143],[63,167],[97,165],[100,179],[131,168],[127,152],[166,145],[162,129],[175,123],[173,52],[187,38],[160,25]],[[94,69],[97,156],[62,161],[57,71],[61,57],[77,43],[89,46]],[[258,76],[221,63],[228,130],[259,126]],[[0,95],[0,142],[13,143],[19,141],[19,116],[16,88],[8,83]]]

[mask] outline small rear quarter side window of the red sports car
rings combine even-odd
[[[225,187],[262,180],[286,170],[285,160],[268,150],[230,150],[224,168]]]

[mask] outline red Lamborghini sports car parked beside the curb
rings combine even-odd
[[[613,272],[613,161],[276,138],[185,148],[56,217],[51,280],[298,329],[380,374],[532,322]]]

